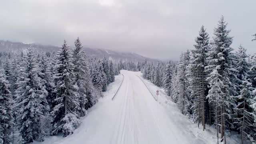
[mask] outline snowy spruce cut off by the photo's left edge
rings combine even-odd
[[[0,144],[10,144],[12,124],[12,95],[4,70],[0,68]]]

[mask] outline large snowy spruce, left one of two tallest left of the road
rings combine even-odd
[[[80,123],[77,114],[80,106],[78,86],[74,85],[72,55],[66,40],[64,40],[62,48],[56,56],[56,72],[54,74],[56,99],[54,100],[54,108],[50,112],[53,117],[52,135],[62,132],[64,136],[68,136]]]

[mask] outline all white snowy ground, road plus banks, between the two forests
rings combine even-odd
[[[122,70],[124,82],[116,98],[114,93],[122,75],[108,86],[104,98],[90,108],[74,134],[62,138],[52,136],[34,144],[216,144],[214,128],[202,131],[182,115],[164,91],[143,80],[155,94],[154,100],[144,83],[136,75],[140,72]],[[156,95],[155,95],[156,96]],[[229,144],[236,144],[227,138]]]

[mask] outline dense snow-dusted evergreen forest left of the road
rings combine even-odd
[[[64,40],[56,53],[32,47],[20,54],[0,52],[0,144],[72,134],[120,66],[136,68],[122,60],[117,66],[106,57],[88,58],[79,38],[74,48]]]

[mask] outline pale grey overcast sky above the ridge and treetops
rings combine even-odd
[[[221,15],[234,36],[256,52],[256,0],[2,0],[0,39],[135,52],[177,60],[193,48],[202,24],[212,37]]]

